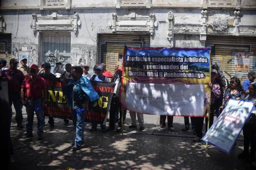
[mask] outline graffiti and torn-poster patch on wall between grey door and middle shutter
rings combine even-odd
[[[71,64],[74,66],[88,65],[93,68],[96,64],[95,47],[88,45],[72,45]]]

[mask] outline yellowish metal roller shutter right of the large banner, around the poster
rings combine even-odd
[[[237,36],[207,36],[206,47],[212,46],[212,64],[218,64],[225,77],[230,80],[231,77],[238,77],[241,82],[247,78],[247,71],[238,71],[234,69],[234,60],[232,52],[249,52],[249,69],[254,68],[256,55],[256,39],[253,37]]]

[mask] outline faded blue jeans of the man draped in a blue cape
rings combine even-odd
[[[85,113],[83,112],[77,114],[77,110],[72,110],[71,117],[74,127],[76,128],[76,138],[74,140],[74,145],[81,146],[83,144]]]

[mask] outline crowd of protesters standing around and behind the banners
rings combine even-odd
[[[46,106],[46,80],[51,79],[53,81],[61,81],[66,99],[70,107],[72,108],[72,121],[74,127],[76,128],[76,138],[74,140],[73,150],[76,151],[81,148],[83,144],[83,132],[84,132],[84,119],[85,113],[88,110],[88,104],[99,98],[96,91],[94,91],[90,81],[102,81],[102,82],[112,82],[115,83],[114,94],[111,101],[109,109],[109,126],[106,127],[107,117],[100,125],[101,131],[103,133],[109,130],[116,130],[120,132],[120,127],[122,122],[126,119],[126,112],[121,107],[119,102],[120,86],[122,82],[122,66],[115,67],[115,74],[106,70],[106,64],[102,63],[100,65],[94,66],[94,74],[89,73],[89,66],[72,66],[71,64],[56,63],[57,66],[65,68],[65,71],[70,73],[68,77],[63,77],[61,74],[51,73],[51,64],[44,62],[39,68],[36,64],[32,64],[28,67],[27,59],[24,58],[20,61],[20,67],[18,67],[18,60],[12,58],[9,63],[9,68],[7,68],[7,62],[4,59],[0,59],[0,77],[2,81],[8,81],[8,95],[9,101],[5,102],[3,99],[0,100],[0,105],[4,105],[6,110],[5,124],[9,127],[9,132],[5,135],[10,135],[10,125],[12,111],[11,106],[13,104],[15,108],[15,120],[17,122],[18,129],[24,128],[22,124],[22,107],[26,107],[27,120],[26,120],[26,134],[24,138],[33,137],[33,118],[34,113],[37,117],[37,129],[38,129],[38,140],[43,139],[45,116],[43,113],[43,108]],[[210,98],[210,115],[206,118],[206,131],[208,127],[213,124],[214,114],[219,117],[221,111],[227,105],[230,99],[245,99],[255,101],[256,106],[256,73],[254,71],[249,71],[247,74],[247,79],[241,84],[240,79],[237,77],[231,77],[230,82],[225,78],[223,72],[219,69],[217,64],[212,65],[211,78],[208,86],[211,89]],[[43,91],[43,93],[42,93]],[[9,103],[8,106],[6,103]],[[205,102],[206,104],[209,101]],[[206,111],[207,112],[207,111]],[[123,113],[123,114],[122,114]],[[142,113],[136,113],[129,111],[132,124],[129,128],[137,128],[136,115],[139,123],[139,130],[144,130],[144,119]],[[123,120],[122,116],[123,115]],[[1,114],[2,116],[2,114]],[[167,127],[168,130],[175,130],[173,127],[173,116],[160,115],[160,130],[166,129],[166,117],[167,117]],[[198,142],[203,136],[203,117],[190,117],[192,124],[192,131],[196,134],[193,141]],[[209,125],[208,125],[209,119]],[[69,124],[68,119],[64,119],[64,125]],[[2,122],[2,118],[1,118]],[[49,117],[48,123],[51,127],[54,127],[54,118]],[[116,124],[116,125],[115,125]],[[182,131],[189,130],[189,117],[184,117],[185,127]],[[117,127],[117,128],[116,128]],[[90,132],[97,130],[97,124],[92,123]],[[255,161],[255,151],[256,151],[256,110],[252,111],[249,120],[246,122],[243,128],[244,135],[244,151],[239,154],[239,158],[248,158],[249,161]],[[2,136],[1,136],[2,138]],[[11,138],[8,137],[9,142]],[[11,145],[10,145],[11,146]],[[251,147],[249,151],[249,146]],[[11,147],[8,151],[9,154],[12,153]]]

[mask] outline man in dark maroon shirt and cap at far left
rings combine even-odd
[[[10,106],[13,104],[15,108],[15,120],[17,122],[18,128],[23,128],[22,125],[22,104],[20,98],[20,89],[22,82],[24,81],[24,74],[17,69],[18,67],[18,60],[12,58],[10,60],[10,68],[7,70],[3,70],[0,73],[0,77],[2,79],[7,79],[8,81],[8,98]]]

